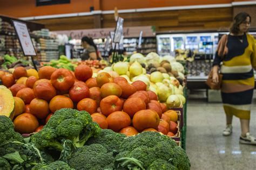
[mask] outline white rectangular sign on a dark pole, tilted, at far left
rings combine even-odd
[[[16,20],[13,20],[12,22],[14,23],[14,27],[15,27],[15,30],[19,39],[19,43],[21,44],[24,55],[30,55],[30,56],[37,55],[26,24],[22,22],[18,22]]]

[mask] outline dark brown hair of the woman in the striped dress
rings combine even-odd
[[[233,33],[233,34],[238,34],[239,33],[239,25],[242,22],[245,22],[247,17],[250,18],[250,23],[251,23],[251,16],[248,15],[248,13],[246,13],[246,12],[238,13],[238,15],[236,15],[234,17],[233,23],[232,23],[232,25],[230,27],[230,32]]]

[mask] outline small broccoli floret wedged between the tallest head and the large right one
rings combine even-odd
[[[107,148],[108,152],[118,152],[125,137],[125,134],[116,133],[110,129],[103,129],[99,136],[87,140],[86,145],[100,144]]]

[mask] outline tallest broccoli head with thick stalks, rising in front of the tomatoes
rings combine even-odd
[[[88,112],[60,109],[52,115],[43,130],[31,137],[31,141],[40,149],[50,147],[62,151],[63,139],[69,139],[76,147],[82,147],[90,137],[97,136],[100,131],[99,125],[92,122]]]

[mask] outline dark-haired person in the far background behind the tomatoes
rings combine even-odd
[[[92,38],[83,37],[81,44],[84,47],[84,53],[81,56],[82,60],[100,60],[102,56],[98,52],[97,46],[93,42]]]

